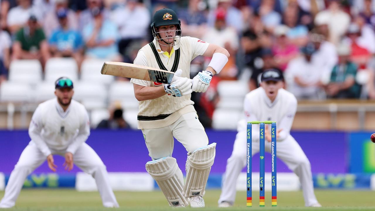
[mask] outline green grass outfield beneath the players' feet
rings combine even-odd
[[[302,192],[279,192],[278,206],[271,207],[270,192],[266,192],[266,207],[259,207],[259,192],[253,192],[253,207],[246,207],[245,191],[237,192],[232,208],[217,208],[220,190],[207,190],[204,196],[205,211],[223,210],[375,210],[375,191],[316,190],[315,194],[323,208],[305,208]],[[3,197],[4,191],[0,191]],[[73,189],[26,189],[22,190],[16,207],[5,211],[102,211],[102,210],[171,210],[164,195],[154,192],[115,192],[120,208],[103,208],[98,192],[77,192]],[[258,199],[258,200],[257,200]],[[190,209],[190,208],[187,208]],[[175,209],[172,209],[175,210]]]

